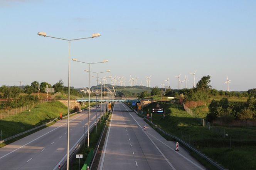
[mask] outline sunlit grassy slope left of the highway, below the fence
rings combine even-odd
[[[67,107],[61,102],[47,102],[36,105],[31,112],[25,111],[0,120],[3,139],[24,132],[50,121],[50,119],[67,114]]]

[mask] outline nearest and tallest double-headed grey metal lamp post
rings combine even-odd
[[[70,99],[70,42],[75,41],[75,40],[83,40],[83,39],[88,39],[88,38],[97,38],[100,35],[100,33],[93,33],[92,37],[86,37],[86,38],[76,38],[76,39],[64,39],[64,38],[57,38],[57,37],[51,37],[47,36],[46,32],[38,32],[37,35],[42,36],[42,37],[49,37],[49,38],[56,38],[59,40],[65,40],[69,42],[69,73],[68,73],[68,100],[67,100],[67,170],[69,169],[69,99]]]

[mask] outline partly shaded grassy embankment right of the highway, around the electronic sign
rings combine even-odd
[[[155,107],[156,103],[152,103],[144,109],[151,111]],[[214,127],[213,130],[208,130],[197,118],[190,117],[181,105],[160,103],[160,107],[165,109],[166,117],[162,119],[162,114],[154,113],[153,123],[165,132],[194,145],[225,168],[234,170],[256,168],[255,127]],[[228,137],[225,137],[226,133]]]

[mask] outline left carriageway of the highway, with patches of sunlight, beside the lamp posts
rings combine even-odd
[[[96,119],[96,107],[90,110],[90,127]],[[97,117],[100,116],[98,108]],[[85,126],[85,128],[84,128]],[[88,112],[70,117],[70,142],[72,150],[79,138],[88,132]],[[86,144],[87,145],[87,144]],[[55,170],[67,153],[67,119],[59,120],[5,147],[0,148],[1,170]],[[71,153],[71,152],[70,152]]]

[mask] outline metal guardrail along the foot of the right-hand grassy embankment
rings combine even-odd
[[[127,105],[128,107],[130,107],[129,105]],[[131,107],[130,107],[131,108]],[[134,110],[133,108],[131,108],[132,110]],[[136,110],[134,110],[135,113],[141,115],[140,113],[138,113]],[[144,115],[141,115],[143,117],[145,117]],[[162,130],[161,128],[157,127],[157,125],[155,125],[154,123],[150,122],[150,120],[148,120],[147,118],[145,118],[145,120],[148,121],[148,123],[152,124],[155,128],[157,128],[158,130],[160,130],[163,134],[167,135],[168,137],[171,137],[177,141],[179,141],[179,143],[187,148],[189,148],[190,150],[192,150],[193,152],[197,153],[197,155],[199,155],[200,157],[204,158],[205,160],[207,160],[209,163],[211,163],[212,165],[214,165],[216,168],[220,169],[220,170],[226,170],[223,166],[221,166],[219,163],[215,162],[214,160],[212,160],[211,158],[207,157],[206,155],[204,155],[204,153],[199,152],[198,150],[196,150],[194,147],[190,146],[188,143],[186,143],[185,141],[181,140],[178,137],[175,137],[173,135],[170,135],[168,133],[166,133],[164,130]]]

